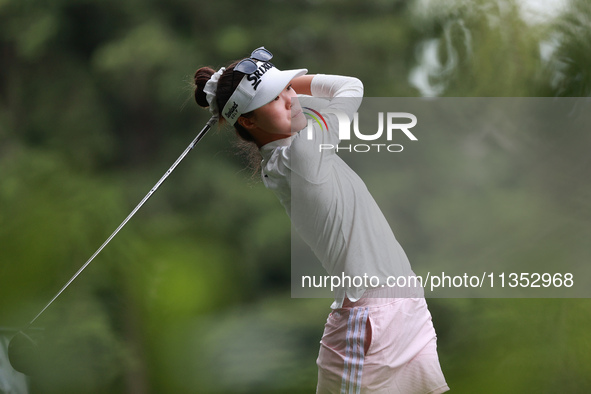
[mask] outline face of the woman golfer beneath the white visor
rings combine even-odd
[[[260,142],[286,138],[306,127],[307,121],[296,92],[287,85],[273,101],[254,110],[251,118]]]

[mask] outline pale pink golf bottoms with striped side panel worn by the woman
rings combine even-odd
[[[379,290],[378,290],[379,291]],[[328,316],[318,355],[317,394],[419,394],[449,390],[424,298],[371,298]]]

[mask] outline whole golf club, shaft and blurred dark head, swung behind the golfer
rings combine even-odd
[[[131,213],[121,222],[119,227],[113,231],[113,233],[107,238],[107,240],[94,252],[92,256],[84,263],[82,267],[72,276],[66,284],[57,292],[57,294],[41,309],[41,311],[31,320],[23,329],[19,330],[10,340],[8,346],[8,358],[10,363],[12,364],[13,368],[19,372],[23,372],[25,374],[30,374],[32,371],[27,370],[26,365],[27,360],[23,360],[23,358],[31,358],[34,357],[34,351],[37,349],[37,343],[34,341],[31,336],[25,334],[31,325],[49,308],[51,304],[66,290],[68,286],[84,271],[84,269],[94,260],[94,258],[107,246],[109,242],[119,233],[119,231],[127,224],[127,222],[135,215],[135,213],[148,201],[148,199],[156,192],[156,190],[160,187],[160,185],[168,178],[168,176],[174,171],[174,169],[179,165],[179,163],[187,156],[187,154],[197,145],[197,143],[203,138],[203,136],[211,129],[211,127],[217,122],[217,116],[212,116],[203,129],[197,134],[195,139],[189,144],[189,146],[184,150],[184,152],[179,156],[178,159],[172,164],[172,166],[164,173],[162,178],[152,189],[146,194],[146,196],[140,201],[140,203],[131,211]],[[28,372],[28,373],[27,373]]]

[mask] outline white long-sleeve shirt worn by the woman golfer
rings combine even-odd
[[[311,100],[300,97],[302,107],[338,110],[350,120],[363,97],[361,81],[343,76],[316,75],[311,91]],[[377,276],[380,286],[386,284],[388,276],[414,276],[406,254],[361,178],[334,149],[319,149],[320,144],[336,147],[339,143],[337,117],[323,116],[327,130],[314,124],[311,138],[303,129],[261,147],[265,186],[277,195],[296,231],[329,275]],[[340,308],[345,297],[356,301],[364,291],[354,286],[337,288],[331,307]]]

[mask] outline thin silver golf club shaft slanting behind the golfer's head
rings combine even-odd
[[[207,124],[203,127],[203,129],[201,129],[199,134],[197,134],[197,137],[195,137],[195,139],[191,142],[187,149],[185,149],[185,151],[179,156],[179,158],[176,159],[173,165],[168,169],[168,171],[166,171],[166,173],[162,176],[162,178],[160,178],[160,180],[154,185],[154,187],[148,192],[148,194],[146,194],[142,201],[140,201],[140,203],[133,209],[133,211],[131,211],[131,213],[125,218],[125,220],[121,222],[119,227],[117,227],[115,231],[113,231],[113,234],[111,234],[109,238],[107,238],[107,240],[100,246],[100,248],[98,248],[97,251],[94,252],[92,256],[90,256],[88,261],[84,263],[82,267],[80,267],[80,269],[74,274],[74,276],[72,276],[70,280],[68,280],[64,287],[62,287],[61,290],[57,292],[57,294],[51,299],[51,301],[49,301],[49,303],[45,305],[41,312],[39,312],[37,316],[35,316],[33,320],[29,322],[29,324],[24,328],[24,330],[28,329],[35,322],[35,320],[37,320],[39,316],[41,316],[41,314],[43,314],[43,312],[45,312],[45,310],[49,308],[49,306],[64,292],[64,290],[66,290],[68,286],[70,286],[70,284],[78,277],[78,275],[80,275],[82,271],[84,271],[88,264],[90,264],[90,262],[94,260],[94,258],[105,248],[105,246],[107,246],[107,244],[111,242],[115,235],[117,235],[117,233],[123,228],[123,226],[127,224],[127,222],[133,217],[133,215],[135,215],[135,213],[142,207],[142,205],[144,205],[145,202],[148,201],[152,194],[154,194],[154,192],[160,187],[160,185],[166,180],[166,178],[168,178],[172,171],[174,171],[174,169],[179,165],[179,163],[185,158],[185,156],[187,156],[191,149],[193,149],[195,145],[197,145],[197,143],[201,140],[201,138],[203,138],[205,133],[207,133],[216,122],[217,116],[212,116],[207,122]]]

